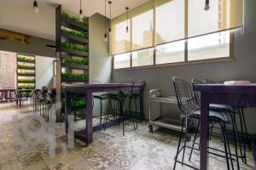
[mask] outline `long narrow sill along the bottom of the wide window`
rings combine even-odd
[[[137,67],[113,69],[113,71],[129,71],[129,70],[136,70],[136,69],[150,69],[150,68],[160,68],[160,67],[167,67],[167,66],[200,65],[200,64],[206,64],[206,63],[226,62],[226,61],[235,61],[235,57],[223,57],[223,58],[217,58],[217,59],[200,59],[200,60],[194,60],[194,61],[166,63],[166,64],[160,64],[160,65],[137,66]]]

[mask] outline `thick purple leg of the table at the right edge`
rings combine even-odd
[[[208,95],[201,93],[201,128],[200,128],[200,169],[207,170],[208,165],[208,128],[209,111]]]

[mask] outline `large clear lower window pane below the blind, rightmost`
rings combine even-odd
[[[188,59],[214,59],[230,56],[230,31],[191,38],[188,41]]]

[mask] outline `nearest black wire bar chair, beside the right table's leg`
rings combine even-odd
[[[194,145],[192,145],[192,146],[186,145],[186,143],[187,143],[186,139],[187,139],[187,133],[188,133],[187,128],[185,130],[185,140],[184,140],[183,147],[180,148],[180,144],[181,144],[181,140],[183,137],[184,122],[185,122],[185,127],[188,127],[189,121],[191,119],[198,120],[198,125],[195,130],[195,138],[197,137],[198,129],[200,126],[200,114],[201,114],[200,105],[198,105],[198,103],[195,99],[195,94],[193,93],[189,82],[185,82],[178,77],[173,77],[173,84],[174,84],[175,93],[177,96],[178,107],[179,107],[180,111],[182,111],[182,113],[183,113],[182,131],[180,133],[180,137],[179,137],[179,141],[178,141],[178,145],[177,145],[177,154],[174,157],[175,163],[174,163],[173,169],[176,168],[177,162],[181,163],[182,165],[185,165],[185,166],[188,166],[188,167],[191,167],[194,169],[198,169],[196,167],[192,167],[191,165],[189,165],[187,163],[184,163],[184,154],[185,154],[186,148],[190,148],[192,151],[200,150],[200,149],[195,148]],[[226,133],[226,124],[230,123],[230,118],[220,111],[209,111],[209,122],[218,123],[219,126],[221,127],[223,139],[224,139],[224,150],[225,150],[224,157],[226,158],[226,161],[227,161],[227,168],[230,169],[230,163],[231,163],[231,166],[233,169],[234,166],[233,166],[233,161],[232,161],[232,155],[230,152],[230,143],[227,139],[227,133]],[[180,152],[182,150],[183,150],[182,161],[179,161],[177,159],[177,156],[180,154]],[[213,152],[210,152],[210,153],[214,154]],[[214,154],[214,155],[217,155],[217,154]]]

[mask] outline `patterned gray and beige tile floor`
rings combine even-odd
[[[159,128],[154,133],[148,133],[148,126],[138,124],[134,131],[132,124],[125,125],[125,137],[121,127],[111,127],[106,131],[94,133],[94,142],[89,146],[79,140],[75,141],[75,147],[69,149],[67,136],[63,127],[55,127],[55,156],[49,156],[49,133],[45,133],[38,139],[30,139],[22,132],[21,125],[24,116],[31,114],[30,107],[15,108],[14,105],[0,105],[0,169],[67,169],[67,170],[162,170],[173,168],[173,157],[177,150],[178,133]],[[20,138],[27,141],[27,146],[20,146],[14,139],[11,120],[12,115],[19,118],[18,129]],[[40,124],[36,121],[28,122],[27,127],[31,131],[37,131]],[[219,139],[212,139],[211,146],[222,148]],[[232,146],[233,147],[233,146]],[[233,147],[234,148],[234,147]],[[199,153],[193,152],[191,161],[188,161],[189,150],[185,152],[185,162],[197,167],[199,165]],[[247,150],[248,165],[240,163],[241,169],[253,169],[253,156]],[[224,158],[210,156],[210,169],[227,169]],[[177,164],[177,170],[187,170]]]

